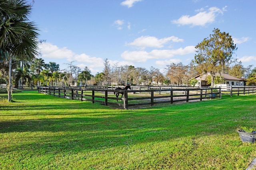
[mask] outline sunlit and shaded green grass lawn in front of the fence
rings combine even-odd
[[[0,169],[244,170],[256,158],[236,133],[256,127],[255,95],[134,110],[13,96],[0,103]]]

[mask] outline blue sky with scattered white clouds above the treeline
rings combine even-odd
[[[229,33],[244,66],[256,67],[254,0],[35,0],[30,20],[40,29],[45,63],[85,66],[95,75],[104,59],[164,70],[194,59],[214,28]]]

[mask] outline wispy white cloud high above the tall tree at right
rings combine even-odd
[[[210,7],[208,10],[201,8],[198,11],[202,12],[199,12],[195,16],[181,16],[178,20],[172,20],[172,23],[178,25],[205,26],[208,23],[213,23],[218,14],[223,14],[226,11],[225,8],[226,6],[222,10],[217,7]]]

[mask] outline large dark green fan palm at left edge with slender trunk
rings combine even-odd
[[[9,63],[8,102],[12,100],[12,60],[32,61],[38,55],[38,29],[29,22],[31,6],[24,0],[1,0],[0,52]]]

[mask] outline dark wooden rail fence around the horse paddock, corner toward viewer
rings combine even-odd
[[[116,98],[114,92],[123,92],[122,98]],[[220,88],[169,88],[150,90],[112,90],[96,88],[62,88],[38,87],[38,93],[68,98],[71,100],[100,102],[106,106],[128,109],[131,106],[142,106],[174,102],[189,102],[192,100],[221,98]]]

